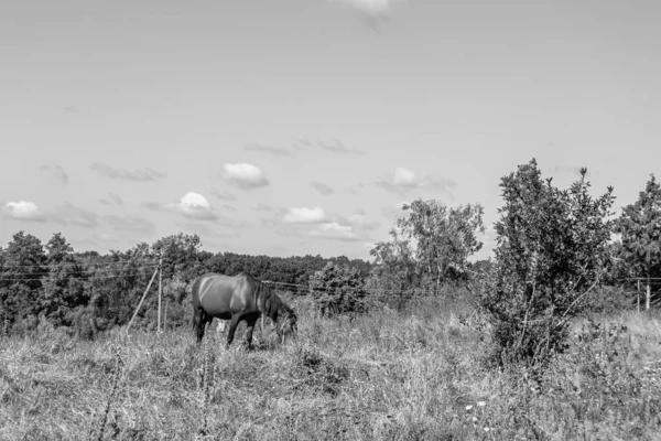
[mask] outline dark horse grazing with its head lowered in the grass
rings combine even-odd
[[[206,325],[216,319],[229,320],[227,346],[234,341],[241,320],[248,324],[246,343],[252,347],[252,331],[257,319],[268,315],[277,325],[278,335],[296,332],[296,313],[266,283],[247,272],[225,276],[207,272],[193,282],[193,332],[202,342]],[[282,323],[278,324],[278,320]]]

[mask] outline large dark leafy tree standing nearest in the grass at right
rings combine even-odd
[[[563,348],[568,320],[589,308],[608,263],[613,187],[593,198],[586,169],[570,190],[541,179],[537,161],[502,178],[496,266],[480,305],[494,324],[497,359],[543,366]]]

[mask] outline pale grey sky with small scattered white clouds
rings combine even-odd
[[[535,158],[633,203],[661,176],[661,2],[24,0],[0,13],[0,246],[183,232],[368,259],[402,202]],[[488,229],[477,257],[492,252]]]

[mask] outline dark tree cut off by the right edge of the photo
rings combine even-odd
[[[620,235],[616,256],[629,277],[646,279],[646,310],[651,305],[651,280],[661,277],[661,185],[653,174],[635,204],[622,209],[614,226]]]

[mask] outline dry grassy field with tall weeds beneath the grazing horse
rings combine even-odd
[[[297,338],[256,331],[252,352],[215,331],[199,348],[188,330],[0,340],[0,439],[661,439],[659,315],[575,323],[539,388],[486,368],[484,326],[432,301],[354,321],[302,309]]]

